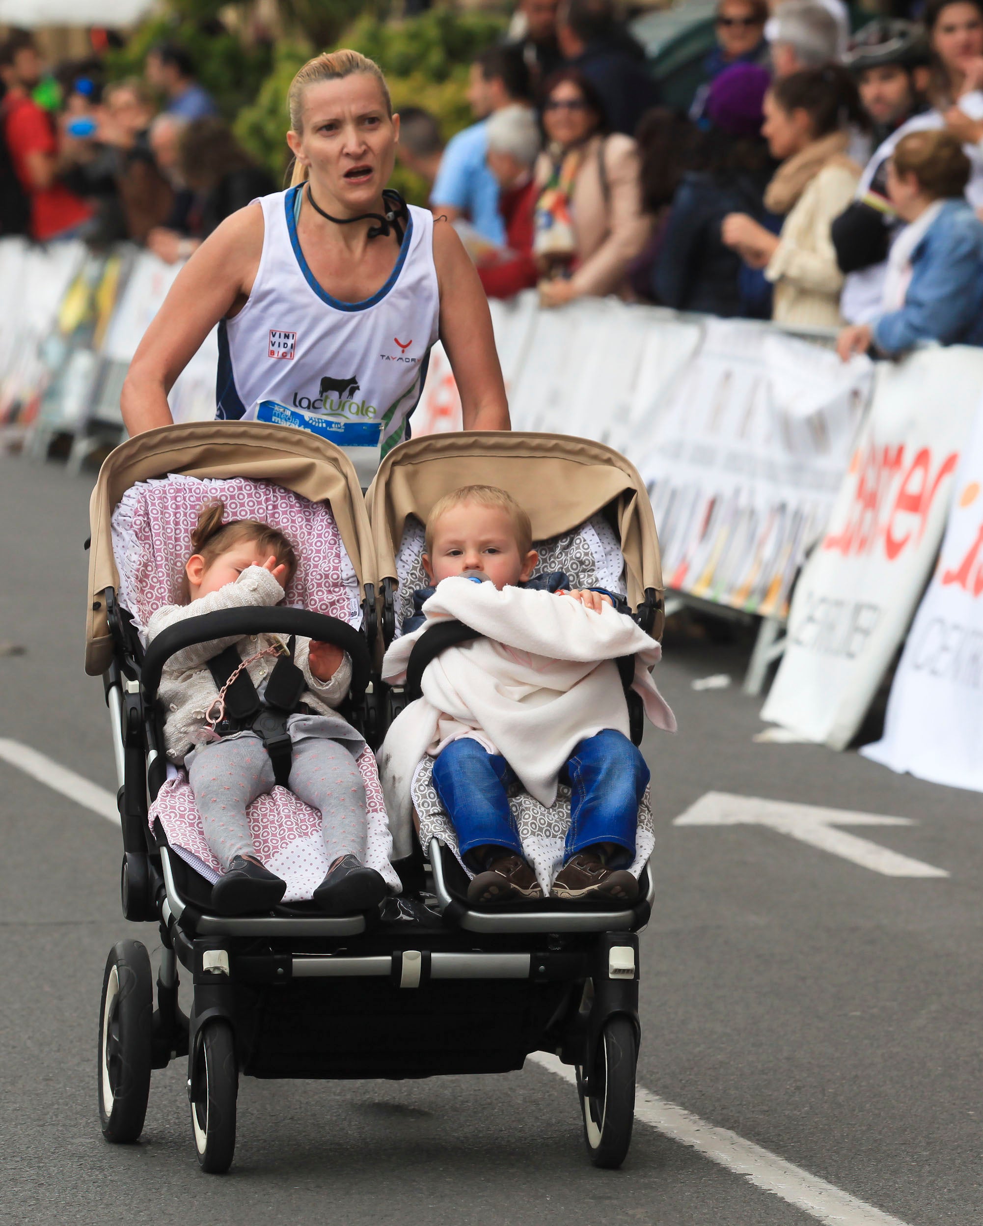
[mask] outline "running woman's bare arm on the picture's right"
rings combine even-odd
[[[509,401],[482,282],[454,227],[434,226],[440,340],[461,394],[466,430],[507,430]]]

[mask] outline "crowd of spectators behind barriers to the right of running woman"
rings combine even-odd
[[[521,0],[473,128],[441,152],[414,115],[485,291],[841,329],[844,359],[983,343],[983,0],[856,33],[842,0],[718,0],[715,28],[670,109],[610,0]]]

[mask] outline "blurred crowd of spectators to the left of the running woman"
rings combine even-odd
[[[275,191],[195,80],[152,48],[142,77],[105,82],[97,56],[45,70],[33,37],[0,43],[0,234],[146,244],[174,262]]]

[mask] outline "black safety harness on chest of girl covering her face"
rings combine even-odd
[[[293,759],[287,721],[292,715],[306,714],[308,710],[306,704],[300,701],[306,680],[293,660],[295,646],[297,638],[290,635],[286,655],[281,655],[270,674],[262,700],[234,645],[208,661],[208,672],[223,702],[222,717],[214,731],[219,737],[255,732],[270,755],[273,777],[281,787],[287,786]]]

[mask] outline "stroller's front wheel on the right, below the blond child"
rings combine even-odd
[[[639,1045],[629,1018],[604,1022],[597,1045],[591,1094],[583,1092],[577,1069],[577,1092],[583,1113],[583,1140],[594,1166],[614,1170],[628,1155],[635,1122],[635,1070]]]

